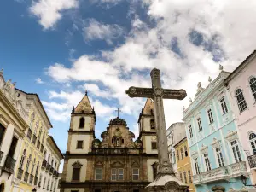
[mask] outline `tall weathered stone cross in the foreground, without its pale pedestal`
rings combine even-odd
[[[185,90],[162,89],[159,69],[154,68],[151,71],[150,76],[152,80],[152,88],[130,87],[129,90],[126,90],[126,94],[128,94],[128,96],[130,97],[147,97],[147,98],[154,99],[154,120],[156,125],[158,159],[159,159],[159,167],[158,167],[156,180],[159,180],[160,177],[166,176],[166,175],[171,175],[172,177],[175,177],[172,164],[168,158],[166,120],[165,120],[163,99],[183,100],[183,98],[185,98],[187,94]],[[173,110],[175,113],[175,109]],[[176,179],[177,177],[175,177],[174,180]],[[167,182],[167,181],[163,179],[163,182]],[[165,183],[163,184],[165,185]],[[154,190],[150,190],[150,191],[154,191]]]

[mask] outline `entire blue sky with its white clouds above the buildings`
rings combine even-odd
[[[183,119],[197,84],[206,87],[219,65],[232,71],[256,48],[255,0],[2,0],[0,67],[16,87],[38,93],[63,153],[70,113],[88,90],[96,137],[109,120],[125,119],[138,135],[145,99],[125,94],[150,87],[184,89],[165,100],[166,128]]]

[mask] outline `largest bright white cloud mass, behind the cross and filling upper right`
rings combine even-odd
[[[103,51],[102,58],[81,55],[69,68],[55,63],[48,73],[58,82],[90,82],[94,84],[90,89],[97,96],[107,94],[97,89],[103,84],[112,93],[110,96],[119,100],[123,112],[138,116],[143,100],[129,98],[125,90],[131,85],[150,87],[149,70],[160,68],[165,88],[183,88],[188,93],[184,101],[165,101],[166,126],[169,126],[181,121],[182,106],[188,106],[199,81],[207,86],[208,76],[217,77],[218,64],[224,70],[233,70],[255,49],[256,2],[144,0],[144,3],[148,5],[145,6],[148,16],[156,21],[153,28],[136,18],[125,44]],[[95,31],[99,28],[95,27]],[[197,46],[190,41],[193,31]],[[98,32],[91,39],[103,39],[102,36]],[[173,39],[176,52],[171,46]],[[217,63],[213,56],[218,52],[221,59]]]

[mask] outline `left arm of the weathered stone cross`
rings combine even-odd
[[[130,87],[125,91],[125,93],[130,97],[154,97],[154,91],[152,88]]]

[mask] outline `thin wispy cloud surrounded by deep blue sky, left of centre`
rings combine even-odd
[[[113,44],[113,39],[119,38],[124,33],[123,28],[119,25],[103,24],[95,19],[87,20],[83,31],[85,41],[99,39],[108,44]]]

